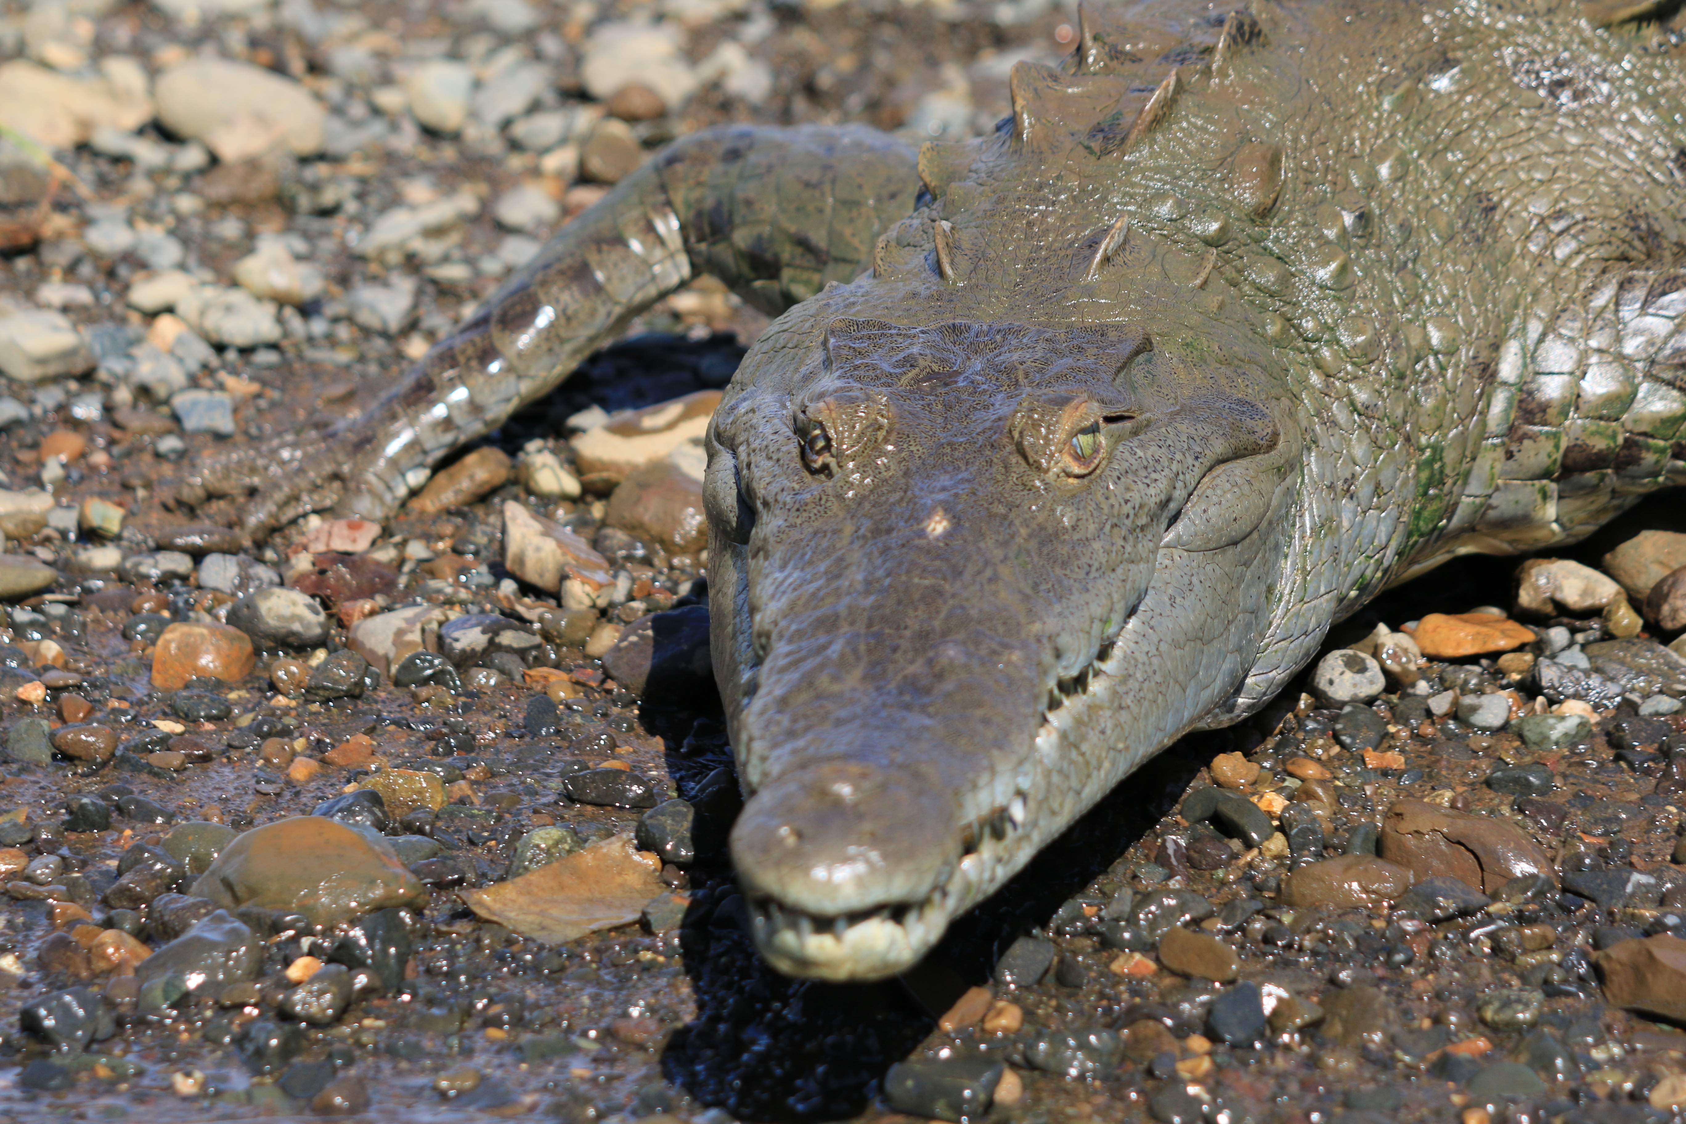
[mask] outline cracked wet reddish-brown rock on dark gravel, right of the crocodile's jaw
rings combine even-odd
[[[1411,870],[1416,881],[1450,876],[1494,893],[1522,875],[1551,875],[1551,856],[1521,827],[1425,800],[1398,800],[1381,824],[1381,856]]]

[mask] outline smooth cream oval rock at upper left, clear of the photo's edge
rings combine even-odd
[[[224,162],[278,145],[298,157],[322,150],[327,110],[293,79],[250,62],[191,59],[165,71],[153,96],[158,123]]]

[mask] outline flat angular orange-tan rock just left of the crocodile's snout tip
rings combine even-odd
[[[465,890],[462,900],[511,932],[563,944],[599,929],[631,925],[666,890],[661,859],[639,851],[627,834],[599,839],[486,890]]]

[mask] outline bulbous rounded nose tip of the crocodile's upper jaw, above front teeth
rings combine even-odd
[[[958,804],[919,770],[824,762],[767,782],[732,831],[738,881],[814,917],[917,903],[961,854]]]

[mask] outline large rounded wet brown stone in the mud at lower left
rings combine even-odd
[[[427,902],[427,888],[384,843],[320,816],[295,816],[244,832],[223,849],[192,893],[224,908],[256,905],[302,913],[315,925]]]

